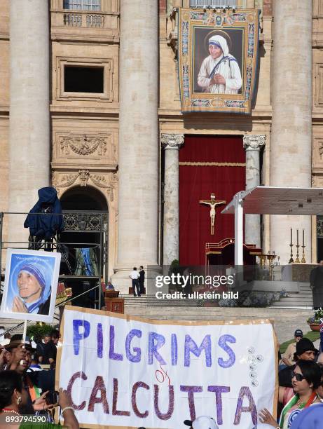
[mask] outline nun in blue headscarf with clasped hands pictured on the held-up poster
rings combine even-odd
[[[46,274],[40,264],[25,264],[17,278],[18,295],[13,298],[12,311],[48,315],[50,307],[50,285],[46,285]]]

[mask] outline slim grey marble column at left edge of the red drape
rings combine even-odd
[[[179,148],[184,134],[162,134],[165,149],[163,265],[179,259]]]

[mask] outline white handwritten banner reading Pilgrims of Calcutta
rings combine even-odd
[[[224,428],[267,428],[275,414],[277,344],[269,320],[175,322],[67,306],[56,387],[82,427],[183,428],[209,415]]]

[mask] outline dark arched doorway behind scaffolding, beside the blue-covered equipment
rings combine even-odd
[[[68,248],[62,268],[76,297],[97,285],[102,276],[107,278],[109,208],[104,194],[92,186],[68,189],[60,202],[65,224],[60,241]],[[73,304],[98,307],[102,297],[95,292],[74,299]]]

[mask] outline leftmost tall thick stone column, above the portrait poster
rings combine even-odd
[[[29,212],[50,181],[49,2],[10,1],[9,211]],[[9,218],[23,241],[24,215]]]

